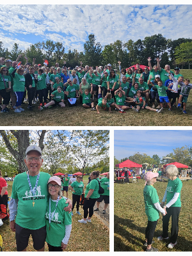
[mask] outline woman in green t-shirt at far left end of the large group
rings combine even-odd
[[[8,68],[1,67],[0,70],[0,95],[3,98],[3,106],[1,109],[1,113],[8,112],[8,108],[6,106],[10,102],[10,91],[11,91],[11,77],[8,73]]]

